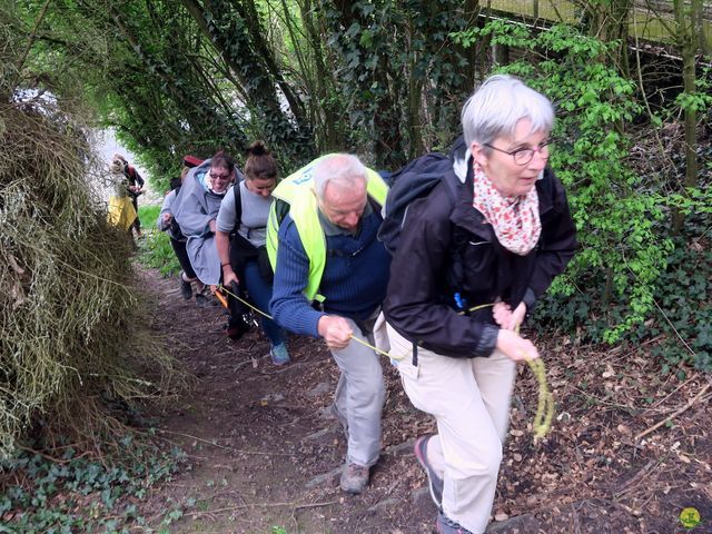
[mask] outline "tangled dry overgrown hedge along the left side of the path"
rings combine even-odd
[[[170,362],[142,335],[131,241],[87,186],[81,129],[50,106],[0,105],[0,457],[31,426],[88,437],[107,403],[155,395]],[[157,384],[136,369],[157,369]]]

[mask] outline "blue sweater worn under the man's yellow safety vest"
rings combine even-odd
[[[354,320],[369,317],[386,296],[390,255],[376,234],[382,218],[364,217],[356,236],[326,237],[326,266],[319,286],[324,312],[312,307],[304,296],[309,259],[297,227],[287,216],[279,227],[277,270],[269,308],[275,322],[290,332],[318,337],[317,323],[326,314]]]

